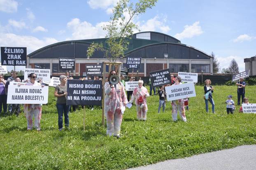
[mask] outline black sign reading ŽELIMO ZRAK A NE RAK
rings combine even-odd
[[[1,47],[2,66],[26,66],[26,47]]]

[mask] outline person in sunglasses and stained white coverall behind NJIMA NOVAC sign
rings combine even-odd
[[[35,73],[30,73],[28,75],[29,81],[26,83],[27,86],[42,86],[36,81],[37,75]],[[43,87],[43,86],[42,86]],[[33,128],[33,116],[35,119],[35,129],[40,131],[40,120],[42,116],[42,104],[24,104],[24,113],[27,118],[27,130],[32,130]]]

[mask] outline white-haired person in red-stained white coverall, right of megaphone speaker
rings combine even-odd
[[[133,91],[132,98],[129,103],[133,103],[135,100],[136,109],[137,109],[137,119],[138,120],[146,120],[147,119],[147,99],[149,97],[149,93],[147,88],[142,86],[143,80],[138,81],[139,87],[136,87]]]

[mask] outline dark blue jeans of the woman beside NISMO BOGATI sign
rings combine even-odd
[[[56,104],[57,111],[58,111],[58,126],[59,129],[63,127],[63,111],[64,111],[64,116],[65,116],[65,127],[69,126],[69,118],[68,118],[68,112],[70,109],[70,105],[64,104]]]

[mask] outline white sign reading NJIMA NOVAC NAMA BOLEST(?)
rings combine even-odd
[[[48,86],[9,85],[7,104],[47,104]]]

